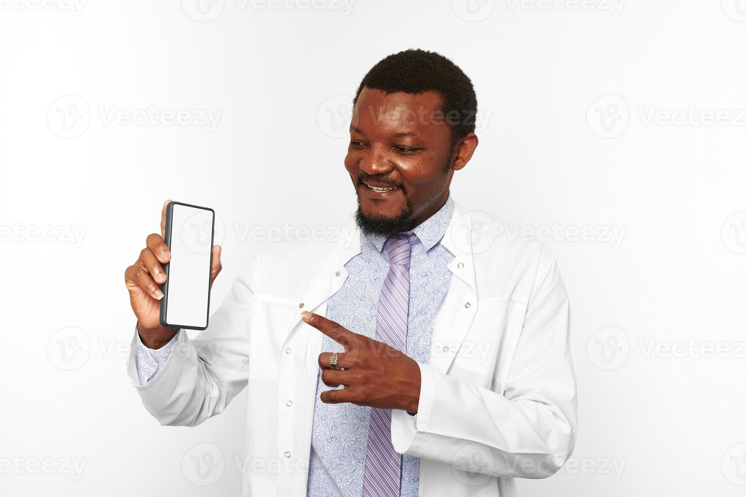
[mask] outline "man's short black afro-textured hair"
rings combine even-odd
[[[441,54],[410,48],[380,60],[360,82],[353,107],[365,86],[386,93],[438,92],[445,121],[451,125],[451,145],[474,133],[477,117],[474,85],[459,66]]]

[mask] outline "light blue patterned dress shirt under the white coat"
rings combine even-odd
[[[451,195],[438,212],[413,229],[421,243],[410,256],[410,310],[407,355],[423,364],[430,362],[435,319],[451,282],[447,266],[454,255],[440,244],[454,212]],[[360,253],[345,264],[348,277],[327,302],[326,317],[345,328],[375,338],[378,297],[389,271],[386,238],[360,235]],[[151,350],[138,343],[135,365],[141,384],[151,381],[169,358],[178,334],[166,346]],[[341,345],[324,337],[325,352],[342,352]],[[325,404],[321,393],[330,390],[321,379],[316,386],[313,411],[308,497],[348,497],[363,493],[370,408],[354,404]],[[415,417],[416,420],[416,417]],[[419,458],[402,457],[401,497],[419,492]]]

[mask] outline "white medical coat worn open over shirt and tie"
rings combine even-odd
[[[454,215],[441,241],[451,285],[421,364],[415,420],[392,411],[391,437],[421,458],[424,497],[516,495],[514,478],[545,478],[572,453],[576,392],[568,298],[547,248],[510,240],[489,218]],[[336,228],[336,229],[335,229]],[[265,249],[197,338],[180,333],[163,370],[142,386],[162,425],[198,425],[248,386],[243,495],[305,496],[322,333],[301,311],[325,314],[360,253],[354,216],[325,241]]]

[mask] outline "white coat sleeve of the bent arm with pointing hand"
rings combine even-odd
[[[569,306],[557,262],[539,251],[536,277],[503,394],[420,364],[417,422],[392,411],[397,452],[470,473],[545,478],[570,457],[577,400]]]

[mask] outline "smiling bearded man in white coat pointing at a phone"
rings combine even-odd
[[[198,425],[248,385],[245,496],[514,496],[513,478],[571,455],[556,262],[449,194],[476,111],[439,54],[377,63],[345,158],[357,213],[339,236],[263,250],[195,339],[158,322],[163,232],[127,269],[128,373],[161,424]],[[214,279],[220,247],[213,260]]]

